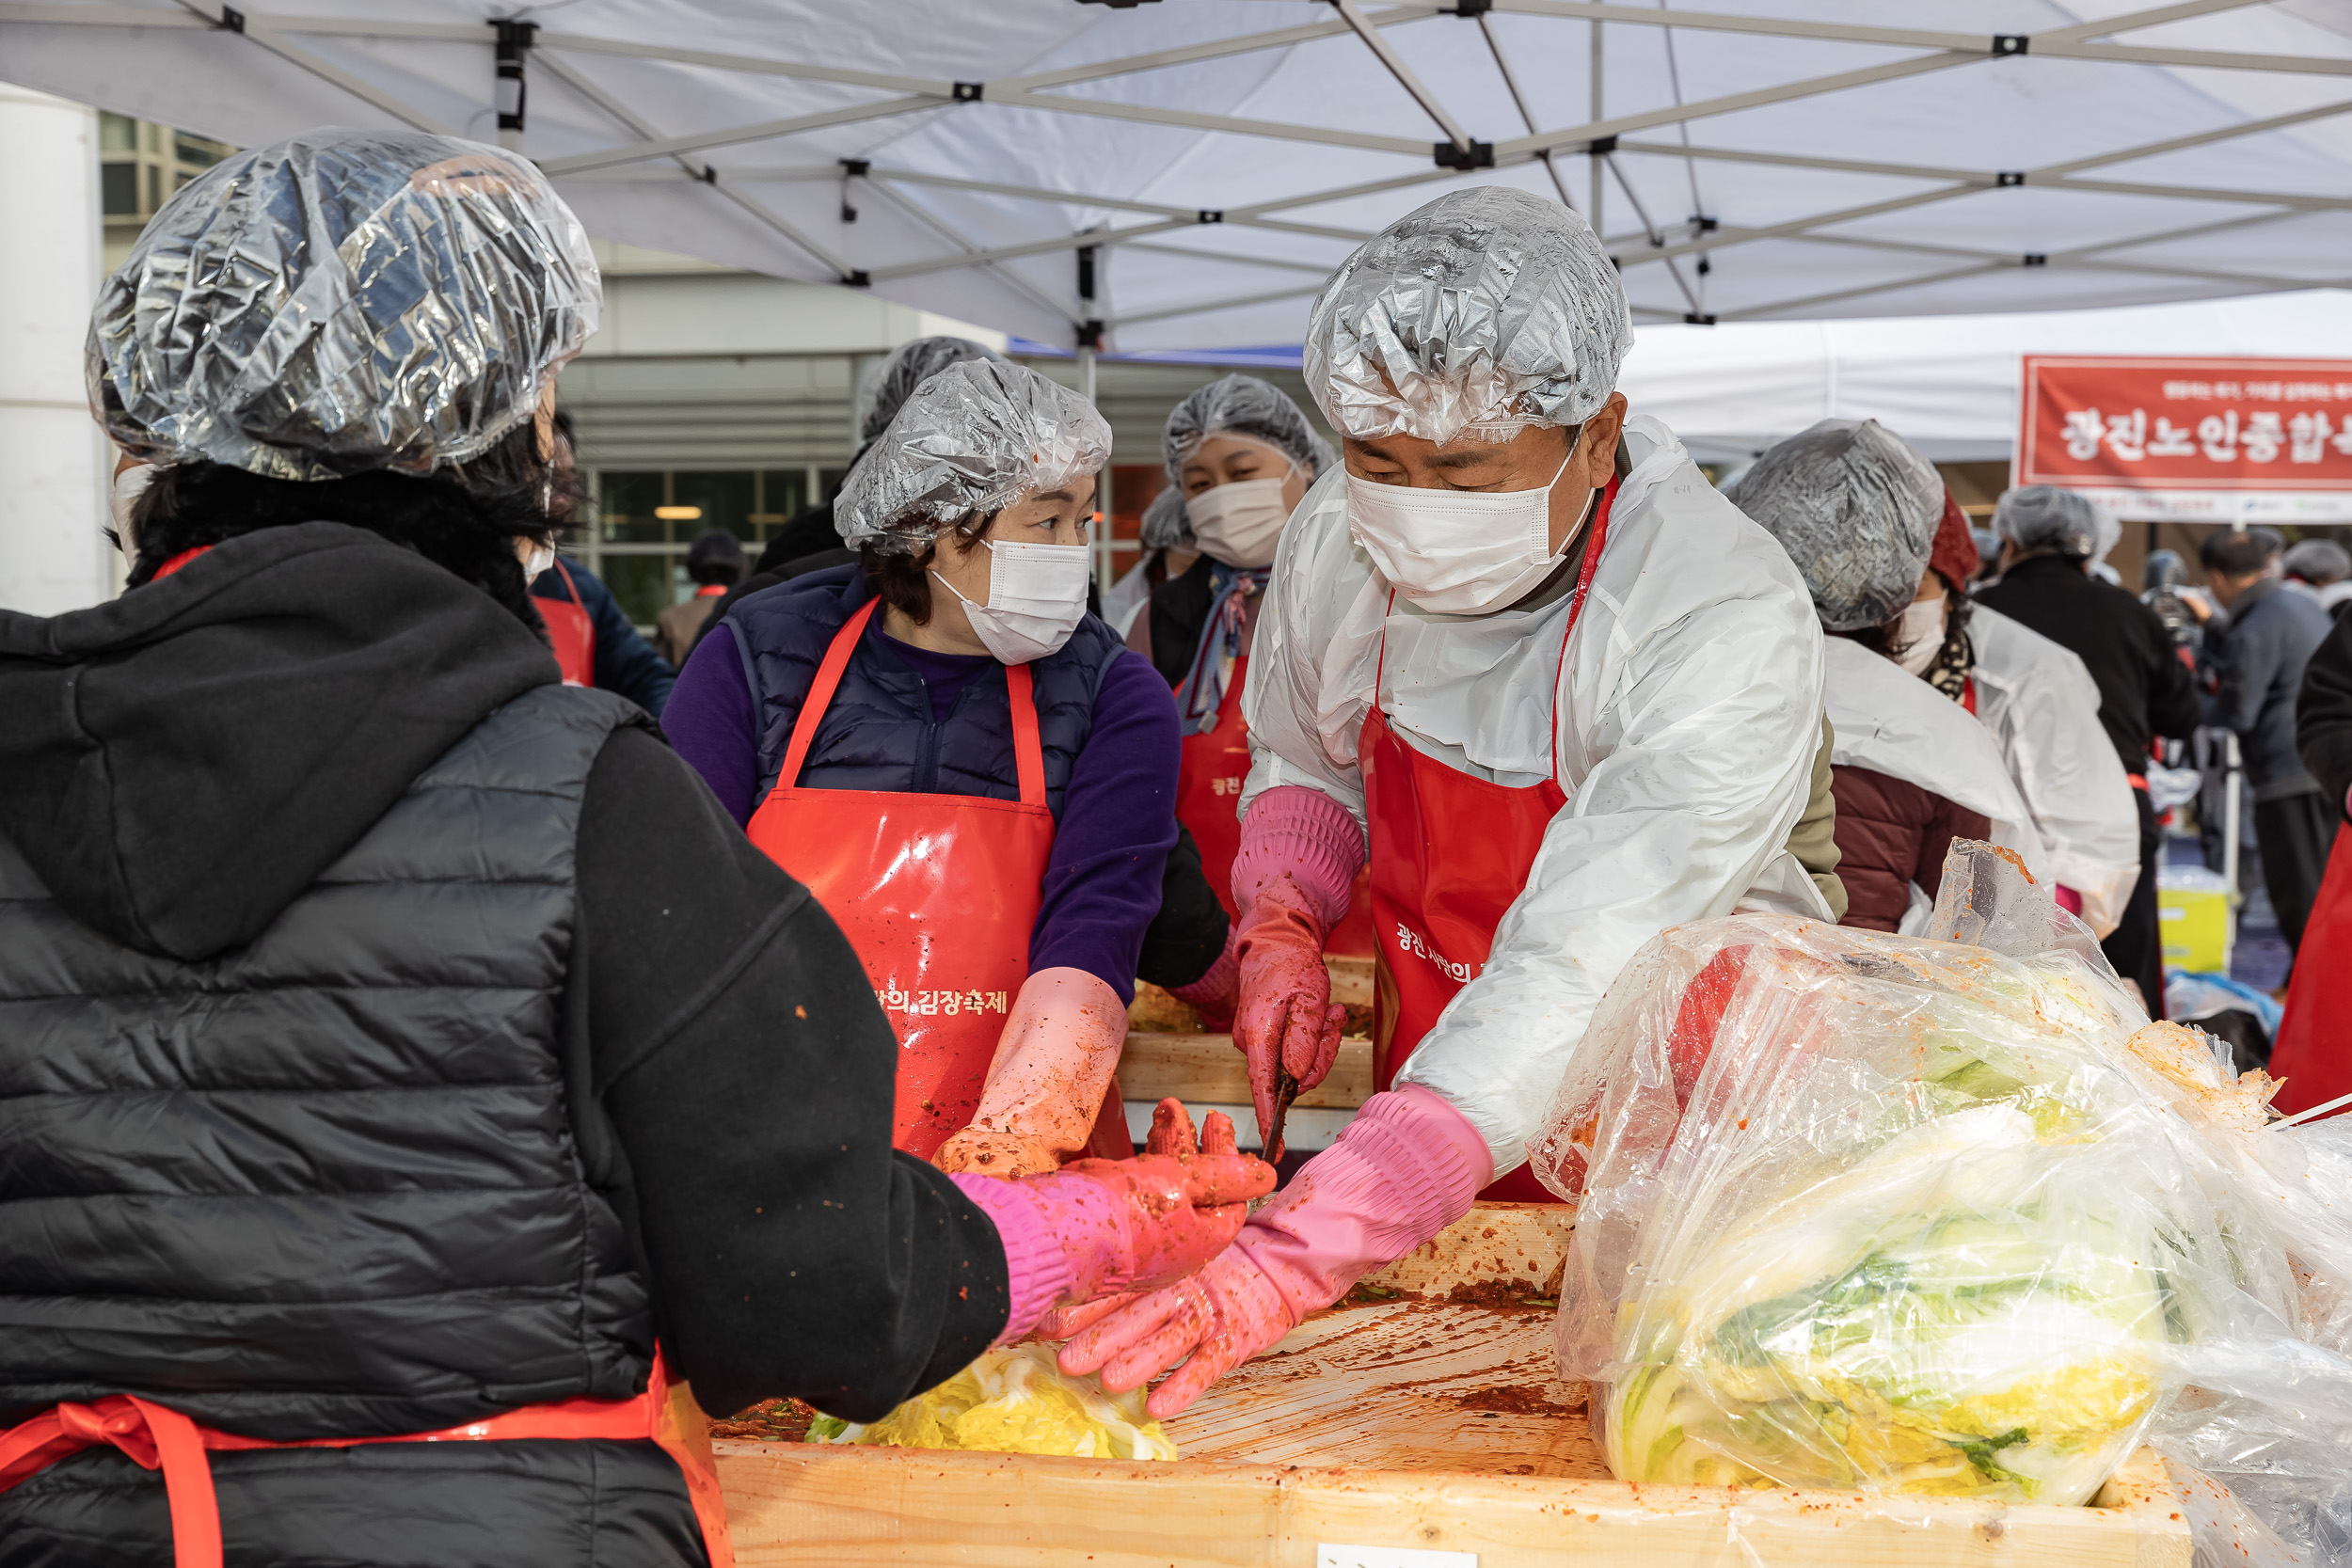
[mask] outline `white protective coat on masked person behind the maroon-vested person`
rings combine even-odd
[[[2051,879],[2082,893],[2082,919],[2105,940],[2140,882],[2140,806],[2098,722],[2098,684],[2082,658],[1978,604],[1976,717],[2042,835]]]

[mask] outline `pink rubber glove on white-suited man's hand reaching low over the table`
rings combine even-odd
[[[1461,1112],[1418,1084],[1378,1093],[1200,1274],[1056,1312],[1044,1333],[1077,1333],[1061,1371],[1101,1371],[1112,1394],[1183,1361],[1145,1401],[1167,1420],[1308,1312],[1470,1213],[1491,1178],[1486,1140]]]

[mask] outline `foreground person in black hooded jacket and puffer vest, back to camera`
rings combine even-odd
[[[891,1152],[840,929],[524,597],[597,301],[407,132],[228,158],[99,296],[132,588],[0,611],[9,1561],[727,1563],[673,1380],[875,1420],[1272,1185]]]

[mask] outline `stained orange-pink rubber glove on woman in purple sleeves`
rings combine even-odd
[[[971,1126],[931,1154],[941,1171],[1037,1175],[1087,1147],[1127,1044],[1127,1004],[1084,969],[1021,983]]]

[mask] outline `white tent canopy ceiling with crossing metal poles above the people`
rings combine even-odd
[[[0,0],[0,75],[245,146],[501,136],[492,5],[287,5]],[[1597,200],[1637,320],[2345,282],[2343,0],[1715,5],[555,0],[508,12],[506,136],[602,237],[1124,350],[1296,343],[1489,181]]]

